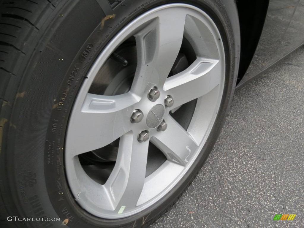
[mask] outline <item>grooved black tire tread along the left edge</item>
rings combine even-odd
[[[60,0],[0,0],[0,154],[5,148],[4,134],[9,128],[8,121],[11,105],[14,102],[22,73],[33,47],[34,39],[54,11]],[[2,140],[3,139],[3,140]],[[5,187],[5,153],[0,161],[0,227],[19,227],[7,221],[7,216],[15,216],[12,205],[6,203],[10,198],[9,190]],[[19,223],[18,223],[19,224]],[[26,224],[20,223],[21,227]]]

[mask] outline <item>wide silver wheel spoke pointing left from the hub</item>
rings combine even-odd
[[[104,147],[130,131],[130,106],[138,102],[132,93],[117,96],[88,94],[75,105],[69,122],[67,145],[71,157]],[[77,140],[75,140],[77,139]]]

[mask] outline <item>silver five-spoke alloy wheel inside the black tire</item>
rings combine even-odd
[[[137,69],[129,92],[105,96],[88,93],[111,53],[127,38],[135,36]],[[168,77],[185,37],[196,60],[184,71]],[[225,80],[224,47],[216,24],[202,10],[187,4],[168,4],[131,21],[105,47],[78,92],[71,111],[65,142],[65,169],[71,192],[89,213],[119,219],[134,215],[161,200],[185,175],[204,146],[214,125]],[[147,94],[157,87],[160,97],[152,102]],[[165,107],[167,96],[174,104]],[[197,99],[187,131],[169,114]],[[164,113],[148,118],[149,112]],[[139,123],[131,123],[135,109],[143,112]],[[161,115],[161,114],[160,114]],[[150,115],[151,116],[151,115]],[[167,129],[157,131],[165,120]],[[150,128],[147,126],[149,125]],[[149,132],[139,142],[138,134]],[[115,167],[105,184],[92,180],[78,155],[96,150],[120,138]],[[167,157],[156,171],[145,177],[149,141]]]

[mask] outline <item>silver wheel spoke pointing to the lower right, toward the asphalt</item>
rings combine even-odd
[[[192,153],[198,147],[192,137],[172,117],[166,119],[167,130],[151,138],[165,154],[167,159],[181,165],[190,161]]]

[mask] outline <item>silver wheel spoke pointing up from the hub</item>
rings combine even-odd
[[[137,95],[144,92],[149,82],[161,88],[176,60],[183,40],[186,14],[181,9],[172,13],[178,16],[160,12],[135,35],[138,64],[131,91]]]

